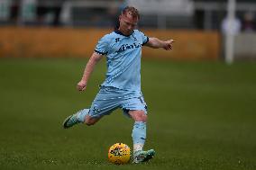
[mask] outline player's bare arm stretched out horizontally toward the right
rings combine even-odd
[[[145,46],[153,48],[153,49],[172,49],[172,43],[174,40],[159,40],[158,38],[151,37],[149,41],[145,44]]]

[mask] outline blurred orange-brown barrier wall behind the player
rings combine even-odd
[[[61,28],[0,28],[0,57],[90,57],[96,42],[111,30]],[[144,30],[148,36],[174,39],[172,51],[143,48],[146,58],[216,59],[219,33],[215,31]]]

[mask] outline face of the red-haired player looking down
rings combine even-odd
[[[135,29],[138,19],[133,18],[129,13],[123,14],[119,17],[120,27],[119,31],[122,31],[124,35],[130,35]]]

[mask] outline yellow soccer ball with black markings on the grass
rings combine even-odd
[[[131,158],[131,149],[123,143],[116,143],[108,150],[108,160],[115,165],[127,164]]]

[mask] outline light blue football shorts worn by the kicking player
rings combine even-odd
[[[147,114],[147,104],[144,102],[142,92],[131,92],[106,86],[100,87],[88,114],[93,118],[102,117],[118,108],[123,109],[123,114],[128,117],[130,117],[129,111],[143,111]]]

